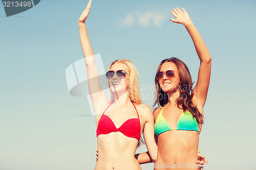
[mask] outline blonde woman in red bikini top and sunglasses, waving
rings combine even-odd
[[[152,110],[142,104],[137,70],[126,59],[116,60],[109,66],[106,78],[111,89],[111,101],[106,98],[85,24],[91,3],[92,0],[82,12],[78,26],[89,92],[96,113],[98,161],[95,169],[139,170],[141,167],[134,155],[142,132],[152,160],[157,157]]]

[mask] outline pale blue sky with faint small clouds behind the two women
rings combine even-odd
[[[95,117],[86,97],[69,94],[65,76],[83,58],[77,21],[87,3],[45,0],[10,17],[0,7],[1,170],[94,169]],[[169,21],[176,7],[186,9],[212,57],[199,143],[209,160],[204,169],[255,169],[255,1],[93,0],[93,50],[105,69],[115,59],[131,60],[142,86],[152,87],[159,62],[170,57],[184,61],[197,81],[193,42]],[[141,91],[151,94],[144,98],[149,106],[152,90]]]

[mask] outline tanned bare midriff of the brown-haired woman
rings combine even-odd
[[[196,164],[198,143],[197,131],[170,130],[159,134],[154,169],[200,169]]]

